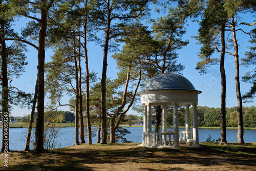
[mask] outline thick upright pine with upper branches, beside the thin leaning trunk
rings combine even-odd
[[[54,2],[54,0],[41,0],[35,2],[15,1],[15,6],[13,7],[19,15],[32,20],[28,23],[27,28],[23,30],[23,36],[30,37],[32,40],[35,40],[35,42],[37,41],[37,44],[32,44],[29,41],[26,42],[35,47],[38,51],[37,120],[35,129],[35,151],[38,153],[44,151],[45,50],[47,25],[49,22],[49,15],[51,14],[50,10],[52,9]]]

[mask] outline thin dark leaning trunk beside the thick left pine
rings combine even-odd
[[[35,114],[35,106],[36,106],[36,100],[37,100],[37,89],[38,87],[38,80],[36,80],[35,84],[35,94],[34,94],[34,99],[33,99],[33,104],[32,104],[32,110],[31,110],[31,115],[30,115],[30,120],[29,120],[29,127],[28,127],[28,134],[27,134],[27,140],[26,140],[26,146],[24,151],[29,151],[29,146],[30,146],[30,138],[31,138],[31,132],[32,132],[32,125],[34,121],[34,114]]]

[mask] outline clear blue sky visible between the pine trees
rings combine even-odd
[[[250,17],[251,18],[251,17]],[[251,23],[253,19],[247,17],[248,23]],[[24,27],[20,23],[24,23],[24,19],[20,19],[16,23],[15,28]],[[197,30],[199,28],[197,23],[189,22],[187,28],[187,33],[183,37],[183,40],[188,39],[189,45],[182,48],[178,51],[179,59],[178,62],[185,66],[184,71],[182,72],[183,76],[190,80],[193,83],[194,87],[197,90],[202,91],[202,94],[199,95],[198,105],[209,106],[214,108],[220,108],[220,95],[221,95],[221,78],[219,65],[211,66],[208,69],[208,74],[200,75],[200,73],[195,70],[197,62],[199,61],[198,53],[200,51],[200,45],[197,45],[197,40],[191,38],[191,35],[197,35]],[[249,26],[242,26],[244,29],[252,29]],[[240,58],[244,57],[244,52],[247,51],[249,43],[247,40],[249,37],[244,34],[240,34],[239,45],[240,45]],[[98,73],[98,77],[101,78],[102,73],[102,57],[103,49],[100,46],[90,42],[89,44],[89,70],[90,72],[94,71]],[[26,66],[26,72],[19,79],[13,79],[12,86],[19,88],[27,93],[34,93],[36,75],[37,75],[37,52],[35,49],[28,47],[27,61],[29,64]],[[50,61],[50,56],[52,55],[51,49],[48,49],[46,52],[46,62]],[[111,57],[112,53],[108,55],[108,70],[107,75],[112,79],[116,77],[117,69],[116,62]],[[215,53],[214,57],[219,58],[220,53]],[[83,61],[84,62],[84,61]],[[232,107],[237,106],[237,96],[236,96],[236,87],[234,82],[234,58],[230,55],[225,56],[225,70],[226,70],[226,81],[227,81],[227,92],[226,92],[226,106]],[[240,77],[244,75],[246,71],[252,71],[251,68],[240,67]],[[241,83],[241,93],[244,94],[246,91],[249,91],[251,84],[250,83]],[[47,99],[46,99],[47,100]],[[68,97],[63,99],[63,103],[68,103]],[[255,105],[254,103],[243,103],[244,106]],[[60,108],[60,110],[69,111],[68,107]],[[30,114],[30,110],[20,109],[16,106],[13,106],[11,116],[23,116],[24,114]],[[136,114],[135,111],[129,111],[127,114]],[[140,115],[140,114],[138,114]]]

